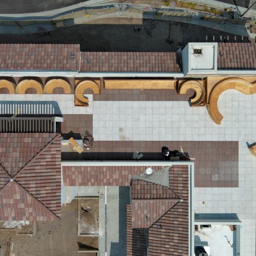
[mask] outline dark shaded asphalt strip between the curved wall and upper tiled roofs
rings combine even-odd
[[[169,34],[173,44],[166,42]],[[138,28],[140,29],[138,31]],[[179,43],[220,40],[232,34],[197,25],[144,19],[143,25],[79,25],[51,32],[0,36],[0,43],[80,44],[82,51],[177,51]],[[241,39],[241,37],[237,37]]]

